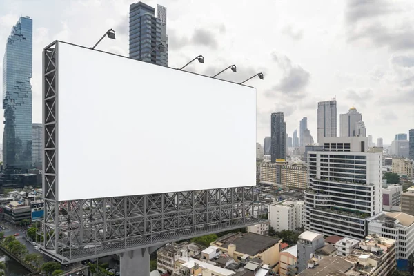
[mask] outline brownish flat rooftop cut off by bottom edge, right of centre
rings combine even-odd
[[[345,275],[346,271],[351,270],[353,264],[342,259],[342,257],[324,257],[317,266],[303,270],[298,275],[301,276],[339,276]]]

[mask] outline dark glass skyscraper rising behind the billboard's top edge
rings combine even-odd
[[[150,63],[168,66],[167,9],[138,2],[130,5],[129,55]]]

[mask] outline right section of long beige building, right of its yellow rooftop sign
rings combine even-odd
[[[294,189],[308,188],[308,167],[303,164],[282,165],[279,184]]]

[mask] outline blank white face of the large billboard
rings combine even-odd
[[[59,201],[252,186],[256,91],[58,43]]]

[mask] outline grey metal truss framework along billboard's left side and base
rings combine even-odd
[[[58,47],[55,41],[43,50],[43,253],[78,262],[267,220],[254,186],[58,201]]]

